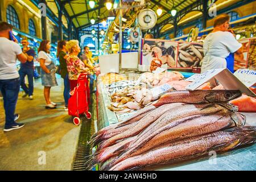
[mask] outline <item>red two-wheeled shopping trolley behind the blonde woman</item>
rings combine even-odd
[[[81,73],[77,79],[77,86],[70,92],[71,97],[68,100],[68,114],[72,115],[73,123],[79,125],[80,117],[85,115],[86,118],[92,118],[92,114],[88,111],[90,104],[90,90],[86,73]]]

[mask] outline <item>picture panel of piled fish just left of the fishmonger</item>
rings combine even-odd
[[[189,68],[201,66],[204,57],[202,44],[179,44],[178,67]]]

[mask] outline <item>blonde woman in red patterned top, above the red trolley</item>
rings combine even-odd
[[[80,73],[87,73],[89,68],[79,59],[78,55],[81,51],[78,40],[69,40],[67,43],[69,55],[67,57],[68,78],[70,89],[73,90],[77,86],[77,79]]]

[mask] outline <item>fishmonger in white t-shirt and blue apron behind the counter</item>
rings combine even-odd
[[[228,68],[234,72],[234,53],[243,52],[232,31],[229,31],[229,15],[222,14],[214,19],[213,31],[204,40],[204,59],[201,73],[208,69]]]

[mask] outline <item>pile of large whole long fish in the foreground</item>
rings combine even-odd
[[[94,134],[90,144],[98,147],[86,165],[132,170],[254,143],[255,127],[243,127],[245,116],[228,103],[239,96],[239,90],[164,94],[156,104]]]

